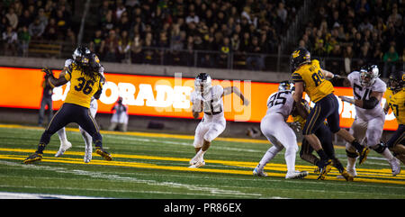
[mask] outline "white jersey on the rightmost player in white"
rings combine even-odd
[[[360,72],[354,71],[347,76],[350,82],[350,86],[353,88],[353,95],[357,100],[368,100],[371,93],[382,92],[385,93],[387,86],[382,79],[377,77],[372,86],[361,86],[360,84]],[[364,121],[374,119],[377,116],[385,115],[383,112],[383,107],[381,106],[381,101],[379,104],[375,105],[373,109],[364,109],[356,106],[356,116]]]

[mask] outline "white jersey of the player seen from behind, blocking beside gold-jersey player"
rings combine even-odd
[[[281,113],[284,119],[287,120],[288,116],[293,111],[293,94],[290,90],[282,90],[270,95],[267,99],[267,113]]]

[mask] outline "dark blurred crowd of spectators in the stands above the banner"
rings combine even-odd
[[[401,0],[305,2],[91,1],[79,41],[84,4],[3,0],[0,55],[63,59],[81,42],[106,62],[290,72],[290,52],[304,47],[340,75],[366,63],[378,64],[382,77],[404,68]],[[282,50],[291,26],[299,37]]]

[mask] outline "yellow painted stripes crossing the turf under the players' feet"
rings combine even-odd
[[[23,153],[32,153],[35,151],[34,149],[2,149],[0,148],[0,151],[6,151],[6,152],[23,152]],[[45,154],[54,154],[55,151],[52,150],[45,150]],[[82,156],[82,152],[78,151],[67,151],[65,155],[73,155],[73,156]],[[96,156],[96,155],[94,155]],[[169,161],[181,161],[181,162],[188,162],[189,159],[187,158],[170,158],[170,157],[157,157],[157,156],[141,156],[141,155],[122,155],[122,154],[113,154],[112,157],[114,159],[116,158],[138,158],[138,159],[155,159],[155,160],[169,160]],[[0,158],[3,159],[16,159],[16,160],[23,160],[26,158],[26,156],[21,156],[21,155],[0,155]],[[44,162],[57,162],[57,163],[68,163],[68,164],[85,164],[83,162],[82,158],[55,158],[55,157],[45,157],[42,158],[42,161]],[[234,167],[249,167],[253,168],[256,167],[255,162],[241,162],[241,161],[227,161],[227,160],[207,160],[207,163],[212,163],[212,164],[222,164],[222,165],[229,165],[229,166],[234,166]],[[97,160],[93,159],[91,161],[92,165],[103,165],[103,166],[117,166],[117,167],[138,167],[138,168],[152,168],[152,169],[165,169],[165,170],[175,170],[175,171],[198,171],[198,172],[209,172],[209,173],[221,173],[221,174],[234,174],[234,175],[249,175],[252,176],[252,171],[251,170],[240,170],[240,169],[214,169],[214,168],[207,168],[207,167],[202,167],[202,168],[189,168],[187,167],[188,165],[185,164],[184,167],[178,167],[178,166],[162,166],[162,165],[156,165],[152,163],[139,163],[139,162],[129,162],[129,161],[104,161],[104,160]],[[285,165],[283,164],[268,164],[265,169],[266,172],[269,176],[278,176],[278,177],[284,177],[285,175],[283,173],[278,173],[279,172],[284,172],[286,171]],[[306,168],[313,168],[313,166],[296,166],[297,168],[301,169],[306,169]],[[277,172],[269,172],[267,170],[272,170],[272,171],[277,171]],[[310,170],[311,171],[311,170]],[[330,174],[337,174],[336,172],[330,172]],[[392,176],[390,169],[364,169],[364,168],[358,168],[357,169],[357,174],[358,177],[355,178],[355,181],[362,181],[362,182],[374,182],[374,183],[391,183],[391,184],[399,184],[399,185],[405,185],[405,176],[402,175],[403,172],[397,176]],[[317,176],[315,175],[310,175],[307,176],[310,179],[316,179]],[[387,178],[387,179],[370,179],[370,178],[365,178],[365,177],[370,177],[370,178]],[[330,180],[342,180],[338,179],[333,176],[327,176],[327,179]],[[344,181],[344,180],[342,180]]]

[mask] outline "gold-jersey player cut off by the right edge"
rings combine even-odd
[[[390,75],[388,80],[388,90],[385,92],[387,99],[384,112],[388,113],[391,108],[399,124],[387,141],[386,145],[391,149],[396,158],[399,158],[405,164],[405,75],[403,71],[397,71]]]

